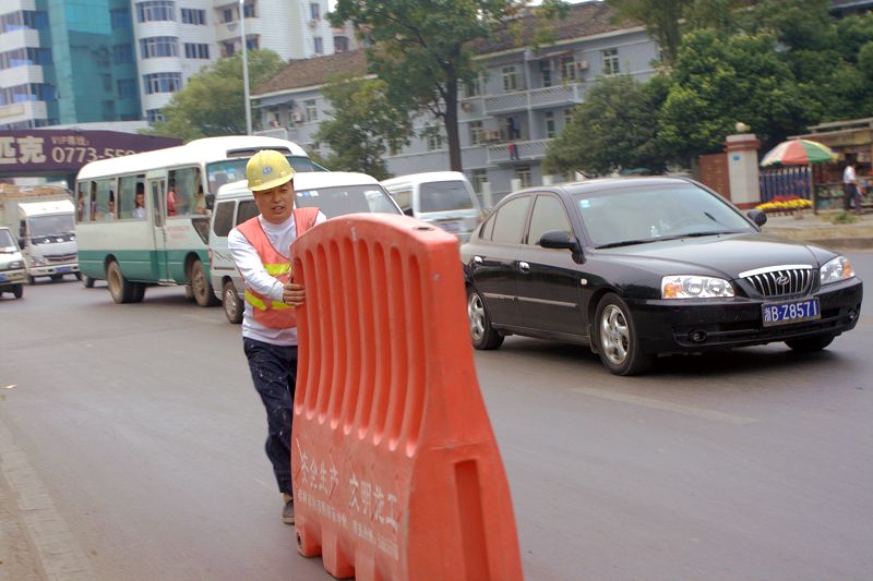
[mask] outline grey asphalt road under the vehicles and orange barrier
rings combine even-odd
[[[873,254],[850,253],[873,281]],[[873,313],[825,352],[476,354],[526,578],[873,578]],[[0,580],[327,580],[297,555],[239,327],[181,289],[0,300]],[[4,477],[3,477],[4,476]],[[434,547],[439,549],[439,547]]]

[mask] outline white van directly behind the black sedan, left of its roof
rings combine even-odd
[[[482,219],[479,198],[459,171],[410,173],[381,183],[404,214],[455,234],[462,243]]]

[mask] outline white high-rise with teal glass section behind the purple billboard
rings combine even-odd
[[[334,51],[327,0],[244,0],[248,48]],[[159,118],[205,64],[241,50],[238,0],[3,0],[0,129]]]

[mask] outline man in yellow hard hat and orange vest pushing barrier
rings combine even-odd
[[[297,379],[297,307],[306,290],[292,281],[290,245],[326,220],[318,208],[295,208],[294,174],[279,152],[259,152],[246,166],[261,211],[234,228],[227,245],[246,280],[242,346],[254,388],[266,408],[266,456],[283,495],[282,518],[294,524],[291,417]]]

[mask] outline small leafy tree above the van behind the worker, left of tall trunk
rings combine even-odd
[[[409,117],[393,107],[379,78],[333,77],[322,90],[332,118],[313,137],[334,153],[324,159],[332,170],[360,171],[378,180],[390,174],[383,156],[399,148],[411,133]]]

